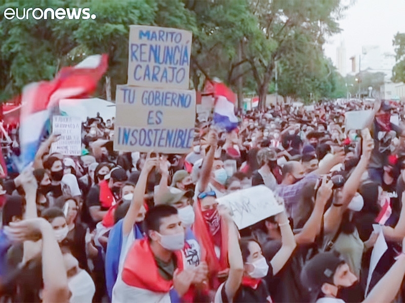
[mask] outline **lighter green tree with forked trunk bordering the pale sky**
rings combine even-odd
[[[252,0],[251,8],[265,39],[257,43],[249,37],[245,55],[252,66],[260,105],[264,107],[274,63],[291,52],[290,37],[305,32],[310,43],[321,48],[326,36],[340,31],[337,20],[346,7],[339,0]]]

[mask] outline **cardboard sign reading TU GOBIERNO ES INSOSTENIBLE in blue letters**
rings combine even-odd
[[[188,153],[194,139],[195,90],[117,85],[114,150]]]

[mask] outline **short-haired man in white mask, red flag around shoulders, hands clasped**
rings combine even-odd
[[[145,225],[148,238],[137,240],[128,250],[112,290],[112,302],[170,301],[172,288],[183,297],[192,284],[207,279],[203,267],[184,269],[184,227],[174,207],[150,209]]]

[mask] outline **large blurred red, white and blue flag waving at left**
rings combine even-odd
[[[107,55],[93,55],[74,67],[64,67],[51,81],[28,84],[22,92],[20,114],[21,164],[34,160],[52,109],[61,99],[92,93],[108,67]]]

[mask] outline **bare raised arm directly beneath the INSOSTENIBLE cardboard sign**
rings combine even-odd
[[[128,209],[128,212],[124,217],[123,222],[124,235],[128,235],[131,232],[131,229],[134,228],[136,217],[138,216],[139,210],[141,209],[143,204],[143,197],[145,195],[148,175],[152,171],[152,169],[157,165],[157,163],[158,163],[158,156],[156,158],[150,158],[149,152],[148,156],[146,157],[145,164],[141,170],[141,174],[139,175],[138,182],[136,183],[136,187],[134,190],[134,197],[132,198],[130,208]]]

